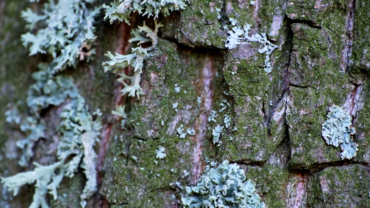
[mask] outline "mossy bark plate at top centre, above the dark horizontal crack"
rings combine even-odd
[[[253,7],[249,2],[194,0],[180,12],[181,15],[175,12],[174,16],[167,17],[166,22],[170,24],[164,26],[163,35],[190,47],[224,49],[227,32],[232,27],[229,17],[242,25],[253,21]],[[225,25],[227,29],[223,28]]]

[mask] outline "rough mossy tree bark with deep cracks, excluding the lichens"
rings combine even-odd
[[[21,45],[26,28],[20,11],[27,7],[26,1],[0,0],[0,115],[8,103],[25,102],[31,73],[40,60],[50,58],[28,57]],[[221,19],[216,8],[221,8]],[[109,25],[102,17],[103,12],[97,18],[95,60],[63,72],[74,77],[91,111],[103,112],[96,147],[99,191],[87,207],[182,207],[185,187],[195,185],[211,161],[226,159],[246,170],[269,208],[370,207],[369,0],[257,0],[255,5],[249,0],[189,0],[185,10],[159,17],[164,27],[154,56],[145,62],[145,95],[139,100],[121,97],[117,77],[104,73],[101,63],[107,50],[126,53],[131,27],[142,25],[144,18],[133,14],[128,26]],[[263,70],[259,44],[226,50],[222,28],[229,17],[252,24],[252,34],[267,33],[278,46],[271,73]],[[231,104],[231,127],[217,146],[212,129],[223,124],[226,110],[216,122],[208,117],[221,110],[223,100]],[[126,105],[124,129],[110,113],[116,104]],[[340,148],[321,136],[333,104],[353,117],[359,151],[352,160],[341,160]],[[27,114],[26,107],[20,110]],[[59,112],[58,106],[45,110],[49,130],[34,147],[32,161],[46,165],[56,160]],[[181,124],[196,134],[179,138]],[[32,163],[17,165],[15,142],[23,137],[0,116],[1,177],[33,169]],[[159,145],[166,149],[163,160],[155,158]],[[60,197],[50,198],[50,206],[78,207],[84,183],[83,174],[65,178]],[[0,207],[28,207],[32,201],[31,186],[16,197],[0,189]]]

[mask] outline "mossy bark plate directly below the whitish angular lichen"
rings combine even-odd
[[[236,130],[231,132],[232,140],[224,139],[221,150],[224,159],[266,161],[285,135],[282,69],[286,63],[278,58],[285,57],[286,51],[273,52],[275,66],[268,74],[263,70],[265,56],[258,53],[259,48],[258,43],[242,43],[231,50],[225,63],[224,76],[228,93],[233,97]]]

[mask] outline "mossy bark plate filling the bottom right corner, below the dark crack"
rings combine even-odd
[[[359,165],[328,167],[309,178],[308,207],[357,207],[370,205],[370,177]]]

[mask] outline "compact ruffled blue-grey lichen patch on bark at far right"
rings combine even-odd
[[[342,149],[340,157],[351,159],[356,157],[358,144],[353,142],[353,135],[356,129],[352,127],[351,115],[346,113],[343,108],[333,105],[329,108],[327,120],[322,124],[321,134],[327,144]]]

